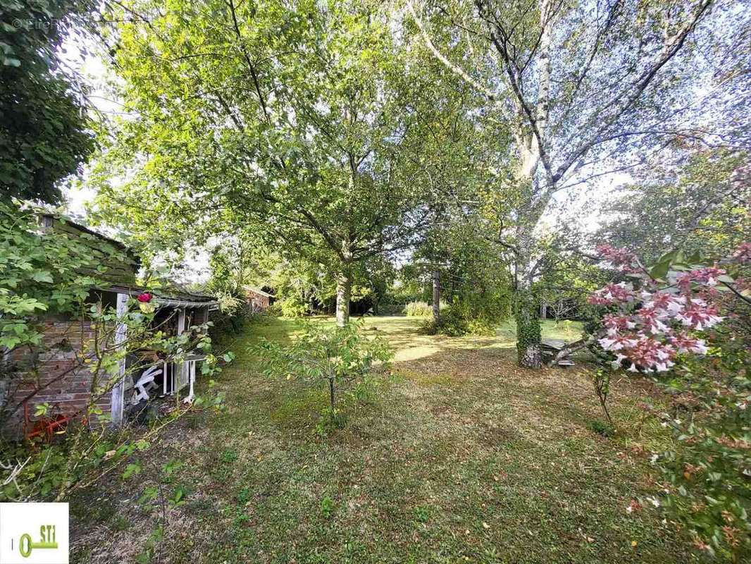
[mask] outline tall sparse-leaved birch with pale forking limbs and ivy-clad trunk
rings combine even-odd
[[[711,0],[677,5],[476,0],[431,3],[421,10],[407,4],[421,41],[483,93],[488,107],[514,132],[514,165],[499,179],[499,191],[513,217],[504,235],[514,254],[520,364],[538,367],[540,329],[531,268],[538,220],[559,190],[603,174],[599,162],[628,167],[638,162],[644,147],[665,138],[716,139],[724,133],[701,123],[690,100],[693,86],[713,78],[704,59],[692,56],[696,50],[686,46],[698,34],[722,53],[712,58],[713,65],[727,71],[717,79],[722,95],[702,102],[713,116],[723,108],[738,116],[738,105],[728,105],[726,95],[733,92],[747,102],[749,89],[740,70],[747,49],[734,51],[742,44],[740,33],[717,38],[712,26],[747,16],[725,7],[710,17]],[[448,47],[433,41],[431,26],[442,38],[445,26],[454,29]],[[459,44],[466,47],[461,50]],[[731,122],[731,117],[722,120]],[[745,132],[729,129],[734,138]]]

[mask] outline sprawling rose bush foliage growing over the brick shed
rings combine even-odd
[[[16,392],[24,384],[31,386],[31,392],[25,390],[23,397],[28,398],[35,417],[51,420],[58,415],[47,402],[34,404],[35,393],[50,385],[38,384],[42,368],[36,361],[44,353],[69,353],[71,345],[66,343],[65,335],[57,341],[42,340],[44,316],[80,318],[97,330],[97,338],[85,342],[83,349],[68,359],[71,369],[86,370],[92,377],[89,402],[77,419],[59,430],[52,444],[44,444],[45,437],[37,437],[31,444],[17,444],[4,437],[0,443],[0,481],[5,483],[0,491],[2,501],[66,499],[80,483],[109,472],[132,453],[149,447],[149,442],[133,429],[101,432],[107,415],[97,401],[111,393],[117,382],[112,377],[129,354],[158,350],[165,359],[174,360],[186,350],[198,349],[207,353],[207,362],[201,368],[204,374],[222,369],[219,360],[210,354],[211,340],[204,334],[207,326],[167,336],[152,328],[155,312],[149,304],[131,299],[125,314],[118,315],[114,308],[98,301],[95,290],[109,285],[108,263],[101,256],[122,261],[127,257],[106,241],[97,241],[97,253],[93,253],[89,237],[92,236],[76,237],[57,231],[40,235],[31,211],[0,203],[0,346],[7,350],[28,346],[37,353],[24,356],[14,365],[2,366],[0,426],[20,408]],[[118,347],[115,331],[121,324],[126,328],[127,339]],[[126,370],[125,378],[132,378],[134,369]],[[196,398],[192,407],[176,410],[159,423],[166,425],[191,411],[213,410],[221,403],[221,395],[210,386],[207,395]],[[122,472],[129,478],[140,468],[131,462]]]

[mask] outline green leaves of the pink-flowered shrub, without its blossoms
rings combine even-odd
[[[751,410],[747,409],[751,405],[751,299],[743,283],[749,274],[743,248],[725,250],[728,258],[710,262],[703,262],[698,251],[686,254],[671,250],[647,268],[629,258],[629,253],[619,259],[622,250],[607,251],[613,257],[611,261],[629,264],[626,275],[639,280],[642,290],[652,290],[646,296],[656,296],[656,290],[661,288],[662,296],[677,296],[693,311],[703,307],[714,316],[709,322],[705,314],[703,327],[690,317],[686,323],[688,316],[683,316],[680,329],[676,329],[664,315],[662,329],[650,329],[650,337],[638,325],[637,316],[645,306],[638,299],[631,299],[616,309],[619,314],[626,314],[622,318],[627,322],[626,328],[608,338],[628,338],[629,331],[638,331],[644,340],[652,338],[656,344],[666,342],[670,346],[678,339],[673,335],[680,331],[684,343],[700,345],[668,349],[673,353],[671,366],[663,367],[663,375],[656,378],[656,383],[673,398],[672,405],[668,409],[665,405],[647,408],[671,430],[673,441],[667,450],[653,453],[652,462],[662,474],[662,505],[671,519],[689,531],[696,547],[734,562],[751,555]],[[633,268],[635,264],[639,268]],[[627,329],[629,320],[631,327]],[[604,334],[602,326],[595,328],[599,335]],[[659,341],[661,333],[670,337]],[[612,361],[614,369],[622,359],[634,360],[633,356],[626,356],[632,354],[627,347],[618,350],[623,353],[620,359],[600,352],[599,359]],[[638,360],[637,357],[635,362]],[[611,421],[606,406],[608,374],[609,370],[598,369],[595,387]]]

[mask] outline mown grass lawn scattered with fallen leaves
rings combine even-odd
[[[511,326],[446,338],[418,323],[365,321],[397,350],[392,374],[342,396],[348,422],[323,437],[323,387],[268,381],[246,352],[295,323],[251,326],[220,379],[225,413],[181,421],[141,453],[135,482],[185,461],[174,482],[188,496],[158,562],[696,561],[653,508],[626,511],[653,492],[649,451],[669,440],[635,407],[646,384],[614,384],[621,430],[605,438],[581,367],[518,368]],[[569,338],[562,324],[545,332]],[[136,560],[160,514],[139,495],[111,478],[71,505],[73,562]]]

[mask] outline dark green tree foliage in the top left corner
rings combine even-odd
[[[80,81],[62,68],[63,38],[90,2],[5,2],[0,8],[0,190],[56,204],[59,180],[95,148]]]

